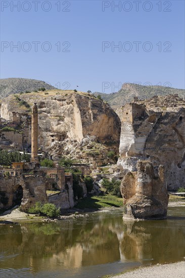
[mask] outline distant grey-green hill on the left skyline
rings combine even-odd
[[[54,86],[48,83],[35,79],[27,78],[5,78],[0,79],[0,99],[8,97],[11,94],[17,92],[34,91],[39,88],[45,88],[46,90],[55,89]]]

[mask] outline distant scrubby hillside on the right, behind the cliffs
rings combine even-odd
[[[175,89],[165,86],[143,86],[138,84],[124,83],[118,92],[112,94],[103,94],[95,92],[94,95],[100,95],[104,101],[107,101],[110,106],[116,110],[121,106],[133,101],[134,97],[140,100],[150,99],[154,96],[166,96],[178,94],[180,98],[185,98],[184,89]]]

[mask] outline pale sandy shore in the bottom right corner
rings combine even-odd
[[[157,264],[154,266],[140,267],[110,278],[184,278],[185,262]]]

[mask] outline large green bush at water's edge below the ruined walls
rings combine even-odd
[[[54,204],[44,204],[36,202],[34,206],[28,209],[29,213],[43,214],[49,217],[58,217],[60,214],[60,209],[58,209]]]

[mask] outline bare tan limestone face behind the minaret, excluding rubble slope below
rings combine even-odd
[[[1,117],[13,120],[17,116],[24,130],[23,148],[30,147],[29,105],[34,102],[39,113],[38,147],[43,151],[52,152],[55,143],[65,143],[67,139],[80,143],[86,136],[96,136],[101,144],[114,143],[118,151],[121,123],[109,105],[86,93],[58,90],[9,96],[3,100]]]

